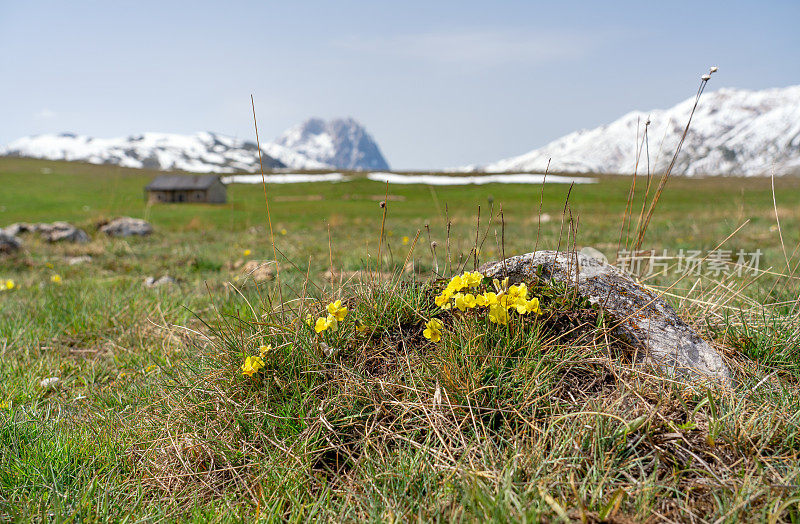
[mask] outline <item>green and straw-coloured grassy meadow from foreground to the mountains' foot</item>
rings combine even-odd
[[[644,177],[630,204],[630,177],[354,173],[147,205],[156,174],[0,159],[0,227],[91,237],[27,235],[0,259],[0,520],[800,519],[800,179],[672,177],[658,200],[642,249],[762,253],[754,275],[670,259],[640,276],[736,370],[705,390],[624,365],[603,315],[559,290],[532,287],[538,322],[454,314],[440,342],[423,335],[440,279],[479,262],[584,246],[613,262],[652,201]],[[96,230],[117,216],[155,232]],[[306,325],[336,299],[338,331]]]

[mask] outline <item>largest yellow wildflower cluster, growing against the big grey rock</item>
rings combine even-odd
[[[474,288],[480,287],[482,282],[483,275],[477,271],[456,275],[436,297],[435,303],[442,309],[450,309],[455,306],[459,311],[476,307],[488,308],[489,320],[495,324],[508,324],[508,311],[511,309],[520,315],[542,314],[542,310],[539,308],[539,299],[528,298],[528,286],[525,283],[509,286],[507,278],[503,281],[495,278],[492,281],[494,291],[480,294],[471,292]]]

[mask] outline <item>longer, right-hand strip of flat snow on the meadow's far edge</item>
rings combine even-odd
[[[401,175],[399,173],[370,173],[367,178],[375,182],[390,184],[423,184],[429,186],[469,186],[483,184],[594,184],[594,178],[561,175],[539,175],[530,173],[504,173],[502,175]]]

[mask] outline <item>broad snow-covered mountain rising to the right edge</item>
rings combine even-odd
[[[650,119],[651,169],[663,172],[683,134],[694,97],[666,110],[634,111],[608,125],[581,130],[521,156],[471,171],[623,173],[634,171],[637,132]],[[644,152],[639,173],[646,172]],[[700,98],[673,173],[760,176],[800,173],[800,86],[763,91],[720,89]]]

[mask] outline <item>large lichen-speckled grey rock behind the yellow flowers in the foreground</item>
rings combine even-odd
[[[583,297],[610,313],[618,323],[617,332],[642,349],[640,361],[668,376],[731,385],[731,373],[721,355],[669,304],[600,260],[582,253],[537,251],[484,264],[479,270],[489,277],[507,276],[516,283],[536,280],[537,268],[545,281],[576,286]]]

